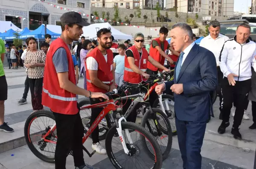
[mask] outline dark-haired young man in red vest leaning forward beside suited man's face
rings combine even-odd
[[[166,37],[168,36],[168,29],[166,27],[161,27],[159,30],[159,37],[152,40],[152,43],[149,48],[149,55],[159,62],[161,65],[164,64],[165,59],[169,61],[169,64],[173,64],[173,60],[167,55],[167,50],[172,51],[172,54],[179,56],[180,54],[176,52],[167,42]],[[147,66],[148,74],[157,74],[158,71],[162,72],[163,69],[158,69],[150,62]]]

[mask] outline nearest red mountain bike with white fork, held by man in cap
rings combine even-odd
[[[115,121],[115,125],[113,125],[108,130],[105,140],[105,148],[108,158],[110,159],[113,166],[116,169],[130,169],[131,167],[129,164],[132,163],[132,165],[139,164],[139,168],[143,169],[160,169],[162,166],[163,158],[161,155],[160,146],[158,145],[153,135],[151,135],[150,132],[148,132],[140,125],[127,122],[124,117],[119,118],[119,120],[114,119],[113,112],[116,112],[117,109],[119,109],[112,98],[113,94],[116,93],[117,90],[106,93],[110,98],[108,101],[82,107],[82,109],[90,109],[96,107],[104,108],[84,135],[82,143],[84,144],[84,142],[87,140],[96,126],[100,123],[100,121],[102,121],[106,115],[109,115],[111,120]],[[49,121],[47,121],[47,118],[49,118]],[[57,129],[54,120],[55,118],[51,111],[40,110],[29,115],[24,127],[24,135],[29,149],[39,159],[49,163],[54,163],[54,148],[58,140],[56,134]],[[46,124],[44,124],[41,128],[39,125],[43,124],[44,122],[46,122]],[[134,135],[135,132],[138,133],[138,135]],[[135,141],[137,138],[139,141]],[[117,140],[113,142],[113,139]],[[148,146],[151,146],[151,153],[154,153],[153,160],[151,159],[152,155],[148,154]],[[90,153],[84,146],[83,150],[88,154],[89,157],[92,157],[92,155],[96,152],[93,151]],[[142,150],[144,150],[146,153],[144,153]],[[124,155],[119,155],[119,153],[122,152]],[[70,153],[67,155],[73,155],[72,151],[70,151]],[[143,158],[140,158],[139,155],[142,155]],[[147,156],[150,158],[149,160],[145,161],[145,157]],[[124,158],[131,158],[131,162],[129,163],[126,160],[127,162],[124,163],[122,161]],[[126,164],[128,166],[126,166]]]

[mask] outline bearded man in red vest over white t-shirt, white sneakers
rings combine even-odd
[[[113,52],[111,51],[112,37],[110,28],[102,28],[97,32],[99,45],[86,56],[87,90],[106,93],[116,88],[115,71],[113,70]],[[90,99],[91,104],[99,100]],[[91,109],[90,125],[98,117],[103,108]],[[92,149],[99,154],[106,154],[106,150],[99,144],[99,126],[92,132]]]

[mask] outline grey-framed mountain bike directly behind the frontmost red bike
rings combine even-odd
[[[169,120],[165,113],[161,111],[160,109],[151,108],[150,104],[147,101],[148,95],[145,94],[143,96],[142,93],[145,93],[141,91],[141,89],[145,89],[145,86],[150,85],[153,81],[145,82],[143,84],[138,85],[122,85],[118,87],[119,93],[122,91],[129,91],[129,90],[137,90],[137,94],[127,95],[127,96],[120,96],[114,101],[116,104],[120,105],[122,107],[122,103],[125,103],[128,99],[133,99],[131,102],[131,105],[128,107],[125,114],[122,112],[122,109],[120,108],[118,111],[113,113],[113,117],[116,118],[117,113],[121,115],[124,118],[127,118],[133,111],[141,112],[143,114],[143,118],[140,122],[140,124],[145,127],[152,135],[154,135],[155,139],[157,140],[158,144],[160,144],[161,152],[163,155],[163,160],[165,160],[169,152],[172,148],[172,128],[169,123]],[[90,101],[83,100],[79,103],[80,109],[83,109],[84,105],[90,104]],[[84,113],[85,114],[85,113]],[[124,115],[123,115],[124,114]],[[87,113],[87,117],[82,118],[82,122],[85,128],[85,132],[87,132],[87,129],[90,128],[90,113]],[[115,122],[111,120],[111,118],[108,118],[106,116],[105,120],[100,121],[99,123],[99,139],[104,140],[105,134],[108,132],[108,129],[114,124]],[[102,134],[101,134],[102,133]],[[145,141],[143,142],[146,143]],[[148,149],[148,154],[151,154],[151,157],[154,158],[154,153]]]

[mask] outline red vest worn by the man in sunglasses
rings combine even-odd
[[[145,48],[142,48],[142,55],[140,57],[139,51],[135,47],[135,45],[131,46],[127,50],[131,50],[134,55],[134,64],[143,72],[147,70],[148,63],[148,51]],[[147,79],[143,78],[140,74],[135,73],[129,65],[127,56],[125,55],[125,72],[124,72],[124,80],[125,82],[129,82],[132,84],[139,84],[142,81],[146,81]]]

